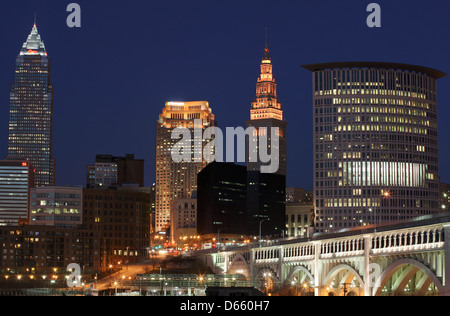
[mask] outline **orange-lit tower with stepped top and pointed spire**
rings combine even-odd
[[[256,84],[256,99],[252,102],[250,110],[250,120],[246,122],[247,127],[254,127],[258,135],[267,135],[267,144],[270,147],[271,130],[278,128],[279,136],[279,168],[277,174],[286,176],[286,128],[287,123],[283,120],[283,110],[281,103],[277,98],[277,84],[273,78],[273,65],[269,56],[269,49],[264,49],[264,57],[261,62],[261,75]],[[254,135],[255,136],[255,135]],[[247,151],[249,144],[247,143]],[[250,149],[251,150],[251,149]],[[260,144],[257,145],[258,153],[262,150]],[[264,148],[270,152],[272,148]],[[258,161],[250,161],[250,153],[247,152],[247,169],[249,171],[261,171],[262,165],[270,165],[270,163],[263,163],[258,154]]]

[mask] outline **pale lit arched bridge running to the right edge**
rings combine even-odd
[[[266,293],[450,296],[450,214],[197,254]]]

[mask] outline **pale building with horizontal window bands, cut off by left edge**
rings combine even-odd
[[[27,161],[0,161],[0,226],[27,222],[34,168]]]

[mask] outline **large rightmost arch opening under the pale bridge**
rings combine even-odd
[[[389,281],[394,282],[392,291],[395,295],[401,295],[411,279],[417,272],[422,272],[423,276],[417,282],[416,290],[419,296],[426,294],[429,286],[433,283],[439,293],[444,294],[445,290],[438,277],[422,262],[414,259],[400,259],[389,265],[375,282],[372,290],[373,296],[380,296]],[[392,280],[395,274],[396,280]]]

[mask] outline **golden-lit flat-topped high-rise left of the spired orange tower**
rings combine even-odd
[[[201,120],[201,126],[194,126],[195,120]],[[203,133],[194,133],[194,128],[203,131],[211,126],[215,126],[215,117],[208,102],[166,103],[156,124],[156,232],[165,231],[169,227],[172,202],[190,199],[197,191],[197,174],[207,163],[204,159],[201,162],[194,161],[195,142],[202,143],[202,150],[206,144]],[[172,159],[172,148],[180,140],[172,139],[172,131],[177,127],[191,131],[192,161],[174,162]]]

